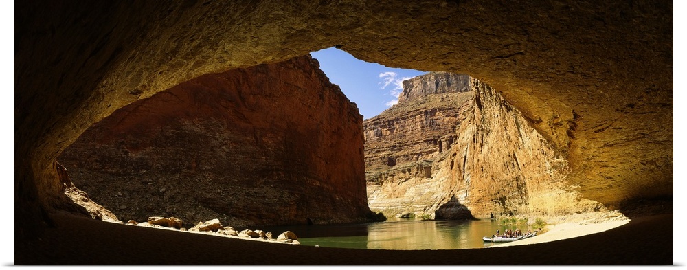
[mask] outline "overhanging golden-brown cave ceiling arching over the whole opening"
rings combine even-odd
[[[608,207],[673,196],[671,2],[23,2],[15,8],[15,230],[76,211],[54,160],[86,128],[192,78],[333,45],[471,74]],[[19,229],[17,229],[19,228]]]

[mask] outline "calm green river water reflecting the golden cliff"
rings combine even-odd
[[[382,223],[348,225],[299,225],[267,227],[262,230],[279,235],[289,230],[301,245],[352,249],[474,249],[501,243],[484,243],[499,229],[521,229],[526,225],[500,225],[499,221],[414,221],[396,218]]]

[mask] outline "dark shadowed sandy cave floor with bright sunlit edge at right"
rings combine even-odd
[[[416,251],[280,245],[53,218],[56,226],[34,240],[15,236],[14,265],[673,265],[673,214],[624,225],[560,224],[512,246]]]

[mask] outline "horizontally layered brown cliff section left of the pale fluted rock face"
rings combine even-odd
[[[445,72],[406,80],[398,104],[363,122],[370,209],[433,215],[449,196],[446,185],[455,179],[433,175],[473,111],[470,83],[469,76]]]

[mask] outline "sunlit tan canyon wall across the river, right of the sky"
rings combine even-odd
[[[363,122],[370,209],[437,219],[605,210],[574,190],[565,158],[488,85],[442,72],[403,88],[412,98]]]

